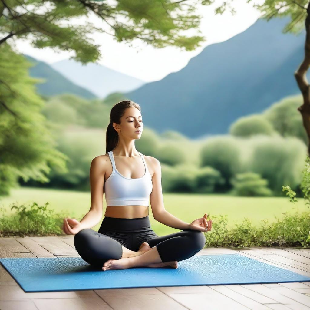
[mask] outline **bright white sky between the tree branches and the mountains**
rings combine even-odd
[[[198,55],[206,46],[226,41],[245,31],[255,23],[261,14],[253,8],[252,4],[246,3],[246,0],[237,0],[232,1],[233,7],[237,11],[235,15],[232,15],[229,11],[225,11],[223,15],[215,15],[214,9],[222,2],[223,0],[215,0],[212,5],[199,7],[197,13],[203,16],[200,24],[201,34],[199,35],[204,36],[206,41],[202,42],[201,47],[198,47],[195,51],[181,51],[176,47],[156,49],[139,39],[133,41],[133,47],[130,47],[128,43],[116,42],[111,35],[106,33],[93,33],[90,37],[95,40],[95,44],[101,42],[100,51],[102,56],[97,62],[145,82],[161,80],[169,73],[184,68],[188,61]],[[254,1],[254,3],[259,4],[262,2],[262,0]],[[102,20],[92,14],[89,15],[88,19],[79,18],[78,20],[72,20],[72,22],[83,24],[85,20],[94,23],[96,27],[104,27],[107,31],[109,30]],[[193,34],[188,32],[187,35]],[[44,49],[34,48],[30,45],[30,39],[19,39],[15,42],[17,50],[21,53],[47,63],[69,59],[71,55],[74,55],[74,51],[56,52],[47,47]]]

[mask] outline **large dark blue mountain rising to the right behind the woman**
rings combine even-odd
[[[300,93],[294,71],[303,60],[305,31],[282,33],[288,21],[258,19],[227,41],[207,46],[178,72],[124,95],[141,106],[144,124],[159,133],[225,134],[239,117]]]

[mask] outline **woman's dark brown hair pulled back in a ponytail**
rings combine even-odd
[[[120,124],[121,117],[125,114],[126,108],[135,107],[141,112],[139,104],[134,101],[126,100],[121,101],[113,106],[110,112],[110,123],[108,124],[107,134],[106,134],[106,146],[105,152],[108,153],[113,150],[118,143],[118,133],[113,127],[113,123]]]

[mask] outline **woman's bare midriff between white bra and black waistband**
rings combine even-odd
[[[120,219],[136,219],[148,216],[147,206],[107,206],[104,216]]]

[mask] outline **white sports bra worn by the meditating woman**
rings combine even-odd
[[[126,178],[117,171],[113,151],[108,152],[112,173],[104,182],[104,194],[107,206],[148,206],[153,190],[152,176],[148,171],[144,156],[138,151],[144,162],[145,173],[142,178]]]

